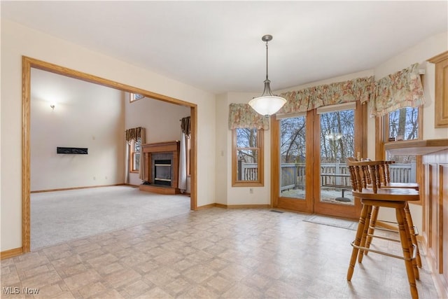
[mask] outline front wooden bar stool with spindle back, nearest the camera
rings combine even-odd
[[[381,165],[381,162],[379,161],[356,161],[355,159],[347,160],[347,166],[349,167],[351,184],[353,188],[353,197],[358,197],[361,204],[363,204],[358,229],[356,230],[356,237],[351,243],[353,246],[353,251],[351,253],[349,270],[347,271],[347,280],[350,281],[353,276],[356,258],[358,257],[358,253],[360,251],[372,251],[374,253],[391,256],[393,258],[401,258],[405,260],[407,279],[412,298],[419,298],[419,293],[415,282],[416,276],[418,277],[419,273],[415,262],[416,244],[412,242],[405,212],[407,202],[419,200],[419,191],[410,188],[378,188],[377,183],[372,183],[372,188],[367,188],[367,175],[370,176],[372,182],[379,181],[379,165]],[[398,232],[400,235],[400,244],[402,247],[402,256],[396,256],[384,251],[370,249],[365,246],[372,207],[389,207],[395,209]]]

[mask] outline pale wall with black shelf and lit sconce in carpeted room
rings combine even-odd
[[[31,191],[124,182],[124,97],[31,69]],[[88,148],[88,154],[57,154],[57,146]]]

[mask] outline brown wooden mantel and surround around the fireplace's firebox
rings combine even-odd
[[[167,141],[167,142],[158,142],[155,144],[142,144],[141,151],[144,155],[144,164],[145,164],[145,174],[144,177],[146,181],[150,184],[142,184],[139,189],[142,191],[148,191],[153,193],[160,194],[179,194],[180,190],[178,188],[178,177],[179,177],[179,141]],[[172,178],[171,178],[171,186],[160,186],[154,184],[153,181],[153,155],[156,154],[172,154]]]

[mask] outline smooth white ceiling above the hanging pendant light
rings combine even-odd
[[[448,31],[448,1],[1,1],[1,18],[213,93],[373,69]]]

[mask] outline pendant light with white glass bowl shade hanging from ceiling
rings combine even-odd
[[[269,78],[267,77],[267,42],[272,41],[272,35],[266,34],[262,36],[262,41],[266,42],[266,80],[265,80],[265,90],[261,97],[254,97],[249,101],[249,105],[253,110],[262,116],[270,116],[276,111],[279,111],[281,107],[286,103],[286,99],[283,97],[278,97],[272,94]]]

